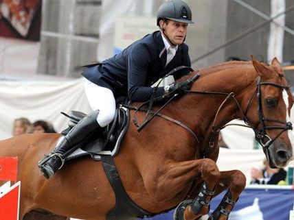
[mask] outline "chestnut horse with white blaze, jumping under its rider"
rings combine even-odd
[[[181,203],[174,219],[199,219],[208,213],[210,199],[227,190],[210,217],[227,219],[246,179],[238,170],[218,171],[219,130],[233,119],[244,119],[256,133],[271,167],[285,167],[292,157],[286,131],[292,127],[286,123],[282,91],[288,93],[289,110],[293,96],[276,58],[271,65],[252,57],[251,62],[227,62],[198,73],[191,90],[161,110],[190,131],[158,116],[141,132],[130,123],[114,160],[128,196],[147,212],[161,213]],[[131,119],[134,114],[131,110]],[[136,117],[142,122],[145,114],[138,112]],[[105,220],[115,206],[115,194],[102,162],[88,157],[70,160],[49,180],[39,171],[38,160],[52,151],[59,136],[26,134],[0,141],[1,157],[19,158],[20,219],[30,210],[47,210],[78,219]]]

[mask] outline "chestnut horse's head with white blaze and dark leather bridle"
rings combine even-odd
[[[293,156],[288,130],[292,130],[290,122],[286,122],[286,103],[283,90],[288,95],[288,112],[293,105],[293,95],[286,82],[284,72],[277,58],[271,65],[258,62],[253,56],[252,64],[257,73],[257,81],[249,101],[245,116],[251,124],[256,140],[262,145],[270,167],[285,167]]]

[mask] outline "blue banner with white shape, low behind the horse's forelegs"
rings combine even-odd
[[[211,202],[211,212],[220,204],[225,192]],[[234,207],[229,220],[289,220],[289,212],[293,210],[293,188],[245,188]],[[157,215],[148,220],[173,220],[174,210]],[[146,219],[147,220],[147,219]]]

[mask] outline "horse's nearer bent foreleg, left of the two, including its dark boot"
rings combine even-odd
[[[199,197],[193,200],[183,201],[175,212],[174,219],[194,220],[209,212],[209,203],[212,199],[214,187],[220,178],[220,172],[213,160],[208,158],[200,160],[191,160],[187,162],[178,162],[175,167],[169,167],[168,175],[170,182],[162,182],[167,184],[170,190],[177,195],[179,192],[184,192],[182,196],[187,195],[193,180],[199,178],[203,180]],[[173,182],[172,182],[173,181]],[[172,187],[171,187],[172,186]],[[169,191],[170,192],[170,191]],[[205,195],[203,195],[203,193]],[[172,195],[172,194],[171,194]],[[183,204],[184,203],[184,204]],[[199,206],[200,204],[200,206]]]

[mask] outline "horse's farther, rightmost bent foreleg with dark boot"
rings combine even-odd
[[[245,175],[241,171],[223,171],[216,184],[216,195],[228,189],[218,207],[212,212],[209,220],[227,220],[234,208],[240,193],[246,185]]]

